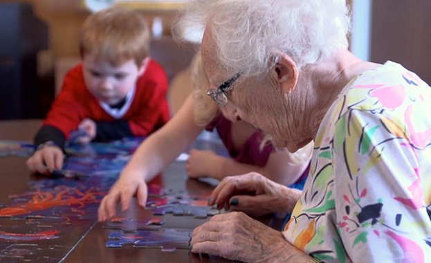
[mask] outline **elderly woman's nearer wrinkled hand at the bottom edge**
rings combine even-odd
[[[241,262],[277,262],[282,251],[291,246],[282,233],[242,212],[215,215],[194,229],[190,244],[193,253]]]

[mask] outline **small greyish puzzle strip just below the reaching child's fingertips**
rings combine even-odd
[[[110,222],[104,224],[103,228],[120,229],[124,232],[134,232],[136,230],[160,230],[161,225],[165,224],[162,219],[146,219],[134,221],[131,218],[113,218]]]

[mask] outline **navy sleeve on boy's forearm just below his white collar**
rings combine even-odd
[[[128,120],[96,121],[96,134],[94,140],[118,140],[131,137],[131,129]]]

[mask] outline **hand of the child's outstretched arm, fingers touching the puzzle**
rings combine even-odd
[[[121,202],[122,211],[128,210],[130,201],[136,197],[138,205],[145,208],[148,186],[138,172],[122,172],[108,194],[100,202],[99,221],[107,221],[116,215],[117,203]]]

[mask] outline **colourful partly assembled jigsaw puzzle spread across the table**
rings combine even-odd
[[[8,203],[0,203],[0,262],[60,262],[71,246],[55,244],[76,244],[78,240],[71,239],[71,232],[73,237],[82,237],[94,226],[100,201],[143,139],[68,143],[62,170],[48,178],[32,177],[28,190],[10,195]],[[34,149],[28,142],[0,140],[0,156],[28,157]],[[152,210],[154,217],[140,221],[114,218],[106,223],[103,227],[113,230],[107,247],[132,244],[169,252],[188,249],[192,229],[163,228],[165,220],[158,216],[171,213],[207,218],[219,213],[208,206],[209,192],[165,189],[160,181],[150,183],[148,193],[146,209]]]

